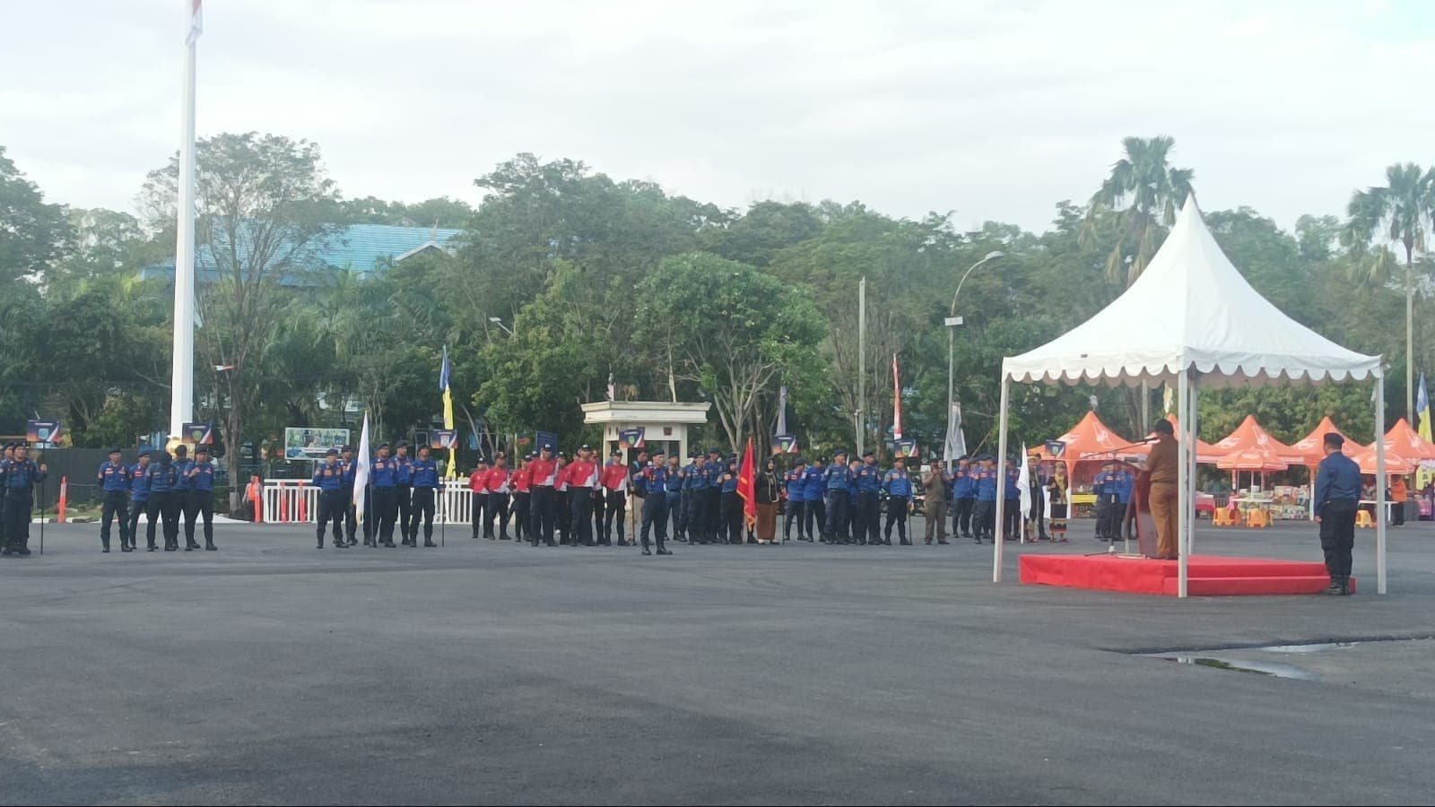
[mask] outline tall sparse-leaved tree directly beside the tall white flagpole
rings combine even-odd
[[[339,192],[319,145],[278,135],[222,134],[197,144],[197,349],[222,373],[225,444],[244,445],[244,418],[260,408],[265,350],[290,313],[293,289],[339,220]],[[151,171],[141,192],[154,224],[175,220],[179,158]],[[230,505],[238,504],[238,490]]]

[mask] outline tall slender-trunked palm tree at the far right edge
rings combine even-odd
[[[1340,243],[1350,247],[1355,274],[1383,283],[1395,273],[1396,256],[1380,237],[1405,247],[1405,416],[1415,422],[1415,251],[1425,251],[1425,223],[1435,217],[1435,168],[1413,162],[1385,169],[1388,185],[1355,191],[1346,213],[1350,221]]]

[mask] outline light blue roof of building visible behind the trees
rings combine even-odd
[[[284,266],[286,286],[307,286],[306,273],[356,271],[369,274],[422,254],[428,250],[453,253],[462,230],[439,227],[397,227],[392,224],[349,224],[320,235],[297,248],[280,247],[270,260],[271,266]],[[243,234],[240,241],[243,241]],[[245,244],[240,244],[240,260],[244,261]],[[174,258],[146,266],[141,279],[161,277],[172,280]],[[195,248],[194,276],[197,283],[214,283],[220,276],[220,263],[207,243]]]

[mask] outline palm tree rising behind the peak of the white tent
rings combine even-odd
[[[1157,254],[1158,223],[1175,224],[1195,172],[1171,168],[1174,138],[1124,138],[1121,145],[1126,155],[1111,167],[1111,175],[1091,197],[1082,238],[1089,243],[1095,237],[1101,214],[1115,214],[1116,243],[1106,258],[1106,280],[1121,280],[1121,267],[1126,264],[1126,286],[1131,286]]]

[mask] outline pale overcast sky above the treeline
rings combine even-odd
[[[0,145],[133,211],[178,148],[188,0],[6,0]],[[346,197],[478,202],[519,151],[742,207],[1043,230],[1124,135],[1207,210],[1342,214],[1435,162],[1435,3],[205,0],[199,136],[317,141]]]

